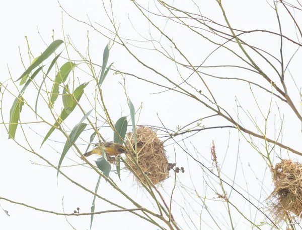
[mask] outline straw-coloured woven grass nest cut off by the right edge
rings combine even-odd
[[[275,190],[269,196],[270,209],[278,221],[286,215],[302,215],[302,164],[282,160],[272,168]]]

